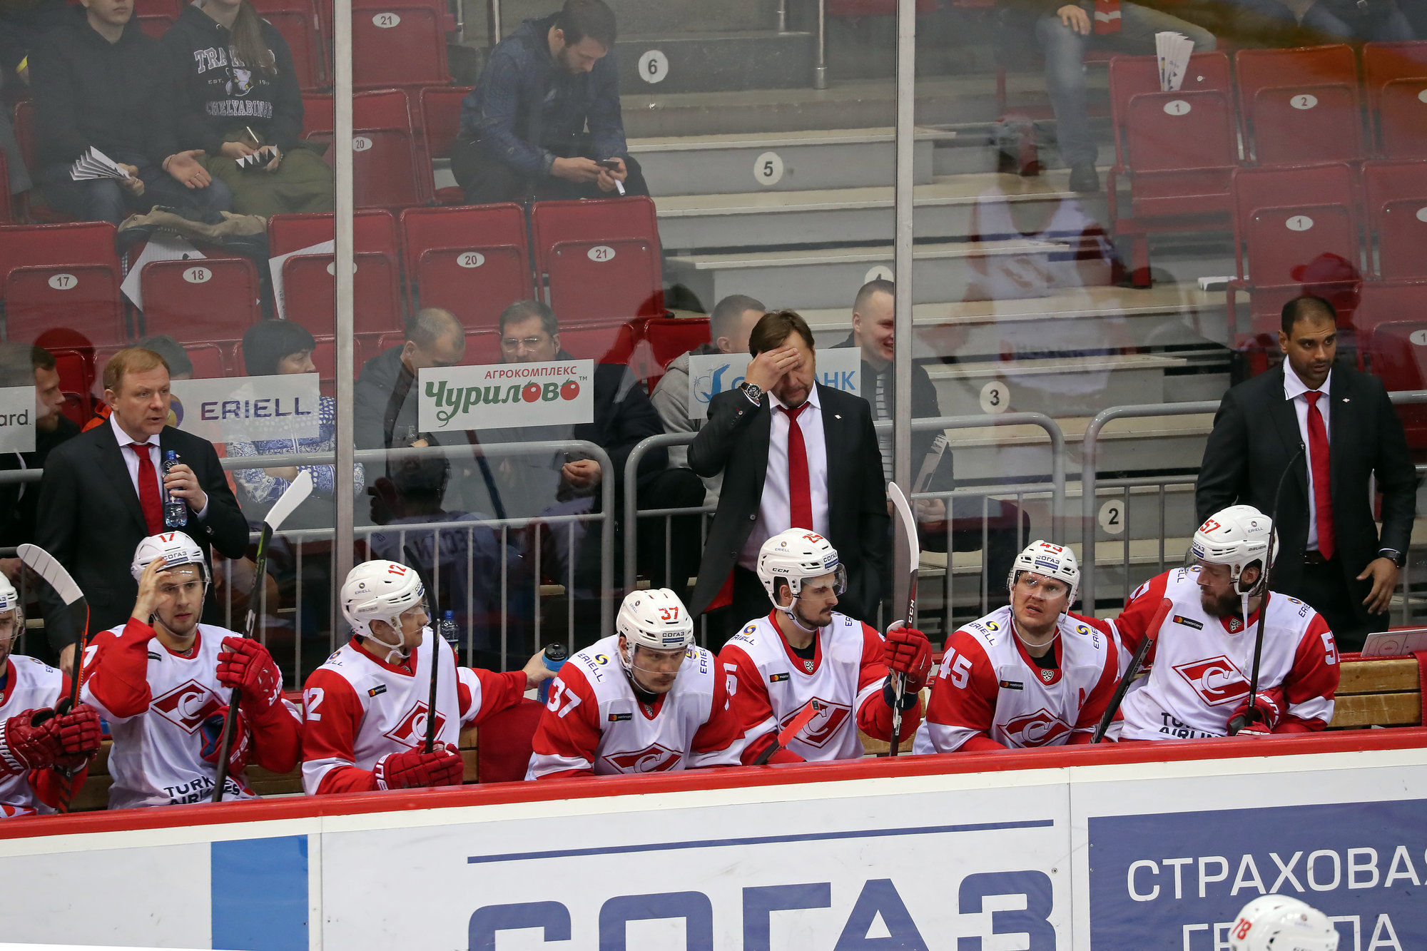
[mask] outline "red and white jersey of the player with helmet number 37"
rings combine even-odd
[[[615,634],[559,668],[525,778],[739,765],[743,745],[714,654],[689,645],[674,687],[644,704],[619,663]]]

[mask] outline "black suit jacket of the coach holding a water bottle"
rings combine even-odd
[[[200,547],[213,545],[230,558],[248,545],[248,523],[224,478],[213,444],[170,426],[158,436],[160,450],[173,450],[208,494],[208,514],[190,510],[183,528]],[[128,573],[134,548],[148,535],[138,493],[128,478],[124,450],[111,424],[97,426],[54,448],[40,480],[36,544],[68,568],[90,605],[90,631],[123,624],[134,610],[138,584]],[[56,623],[63,607],[43,585],[46,631],[56,651],[74,643],[77,618]],[[210,588],[210,603],[213,591]]]

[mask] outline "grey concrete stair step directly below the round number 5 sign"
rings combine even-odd
[[[930,144],[930,143],[926,143]],[[890,143],[889,143],[890,147]],[[746,180],[751,158],[736,174]],[[883,170],[893,174],[890,164]],[[685,173],[688,174],[688,173]],[[839,171],[852,174],[850,167]],[[863,168],[865,178],[880,171]],[[983,238],[1103,231],[1102,196],[1077,196],[1067,171],[1033,178],[969,173],[938,176],[913,187],[916,240]],[[895,194],[890,184],[738,194],[656,197],[659,238],[669,250],[788,247],[798,244],[892,241]]]

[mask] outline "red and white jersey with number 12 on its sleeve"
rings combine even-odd
[[[455,650],[430,627],[422,628],[421,644],[401,664],[378,658],[352,638],[303,687],[303,788],[308,795],[377,790],[377,760],[425,744],[432,644],[441,663],[438,744],[457,745],[464,727],[525,695],[525,671],[497,674],[459,667]],[[385,654],[385,648],[377,650]]]

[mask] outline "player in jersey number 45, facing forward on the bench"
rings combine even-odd
[[[1006,588],[1010,604],[948,638],[913,753],[1090,743],[1119,683],[1119,648],[1107,621],[1070,613],[1075,554],[1033,541]]]

